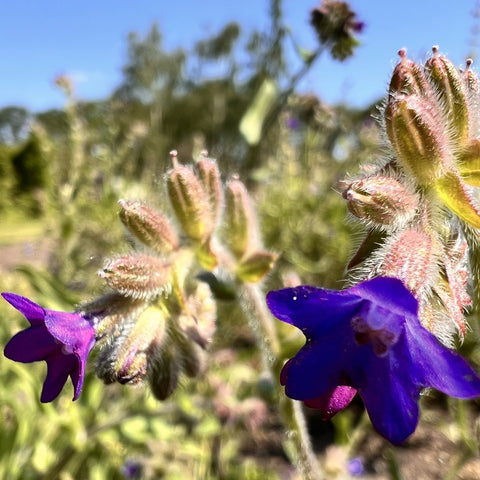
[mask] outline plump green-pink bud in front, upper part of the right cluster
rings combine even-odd
[[[408,95],[393,100],[385,109],[385,124],[398,160],[420,185],[430,185],[450,167],[445,127],[425,98]]]

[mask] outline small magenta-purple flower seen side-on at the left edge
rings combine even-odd
[[[7,343],[5,356],[22,363],[47,362],[42,402],[55,399],[69,375],[74,386],[73,400],[76,400],[82,390],[87,357],[95,343],[93,326],[78,313],[46,310],[14,293],[2,293],[2,296],[23,313],[31,325]]]

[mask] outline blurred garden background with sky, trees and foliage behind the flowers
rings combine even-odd
[[[129,248],[117,201],[168,209],[172,149],[183,163],[206,149],[224,181],[248,185],[264,243],[281,254],[266,289],[292,273],[340,288],[362,231],[334,185],[382,154],[375,116],[397,51],[422,60],[438,44],[461,66],[480,41],[475,1],[349,5],[349,35],[327,40],[312,0],[2,6],[0,290],[64,310],[101,293],[104,259]],[[232,308],[220,305],[205,377],[163,403],[89,371],[76,403],[67,386],[40,404],[44,365],[2,356],[0,478],[296,478],[255,340]],[[4,345],[26,321],[6,302],[0,316]],[[477,316],[471,330],[462,352],[478,366]],[[308,412],[330,478],[480,478],[479,403],[423,403],[397,449],[360,404],[327,423]]]

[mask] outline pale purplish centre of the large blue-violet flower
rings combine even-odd
[[[386,316],[382,314],[386,314]],[[394,328],[388,328],[393,326],[392,322],[388,321],[388,316],[388,312],[381,312],[375,308],[362,312],[361,315],[351,320],[351,326],[355,331],[355,341],[358,345],[370,343],[373,352],[379,357],[385,356],[398,339],[398,333],[392,331]]]

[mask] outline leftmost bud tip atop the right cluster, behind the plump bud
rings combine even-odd
[[[407,51],[402,48],[398,55],[400,62],[393,70],[388,92],[390,96],[419,95],[433,96],[433,91],[420,65],[407,58]]]

